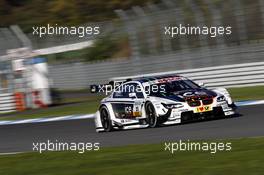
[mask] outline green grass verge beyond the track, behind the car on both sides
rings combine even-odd
[[[234,101],[264,99],[264,86],[230,88],[228,90]],[[82,92],[82,90],[78,90],[77,92]],[[70,99],[64,100],[64,102],[66,103],[73,103],[72,105],[62,105],[59,107],[30,110],[26,111],[25,113],[22,112],[11,115],[9,114],[7,116],[0,117],[0,120],[31,119],[40,117],[56,117],[72,114],[95,113],[102,98],[103,97],[101,96],[84,98],[72,97]]]

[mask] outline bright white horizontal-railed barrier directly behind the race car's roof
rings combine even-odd
[[[245,87],[264,85],[264,62],[216,66],[182,71],[159,72],[136,76],[116,77],[114,80],[127,78],[179,74],[195,82],[205,83],[207,87]]]

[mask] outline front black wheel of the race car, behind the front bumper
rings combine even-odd
[[[155,108],[151,102],[147,102],[145,106],[146,110],[146,121],[150,128],[155,128],[157,126],[157,114]]]

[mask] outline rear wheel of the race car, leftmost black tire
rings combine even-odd
[[[101,118],[101,123],[106,132],[110,132],[113,130],[113,125],[110,119],[110,114],[108,112],[108,109],[106,106],[100,107],[100,118]]]

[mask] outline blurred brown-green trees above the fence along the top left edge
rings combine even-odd
[[[1,26],[32,26],[57,23],[78,25],[115,18],[115,9],[128,9],[160,0],[0,0]],[[3,19],[3,20],[2,20]]]

